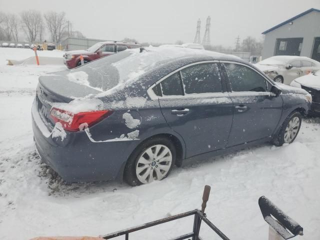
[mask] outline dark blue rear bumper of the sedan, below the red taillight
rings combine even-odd
[[[92,142],[84,131],[66,132],[63,140],[52,138],[49,131],[42,132],[44,123],[39,122],[36,114],[32,109],[33,139],[38,154],[65,181],[122,179],[122,169],[129,154],[125,150],[128,142]]]

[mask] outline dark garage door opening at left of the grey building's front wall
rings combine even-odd
[[[302,48],[303,37],[277,38],[274,55],[299,56]]]

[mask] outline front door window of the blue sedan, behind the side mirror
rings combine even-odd
[[[267,91],[266,80],[253,69],[234,63],[224,63],[232,91]]]

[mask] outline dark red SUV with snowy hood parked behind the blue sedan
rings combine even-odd
[[[126,41],[100,41],[90,46],[86,50],[66,51],[63,55],[64,64],[67,68],[74,68],[81,65],[80,55],[83,56],[83,62],[89,62],[102,56],[107,56],[115,52],[123,51],[127,48],[141,47],[140,44]]]

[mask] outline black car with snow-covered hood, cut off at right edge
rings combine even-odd
[[[320,70],[295,78],[290,85],[309,92],[312,96],[309,113],[320,115]]]

